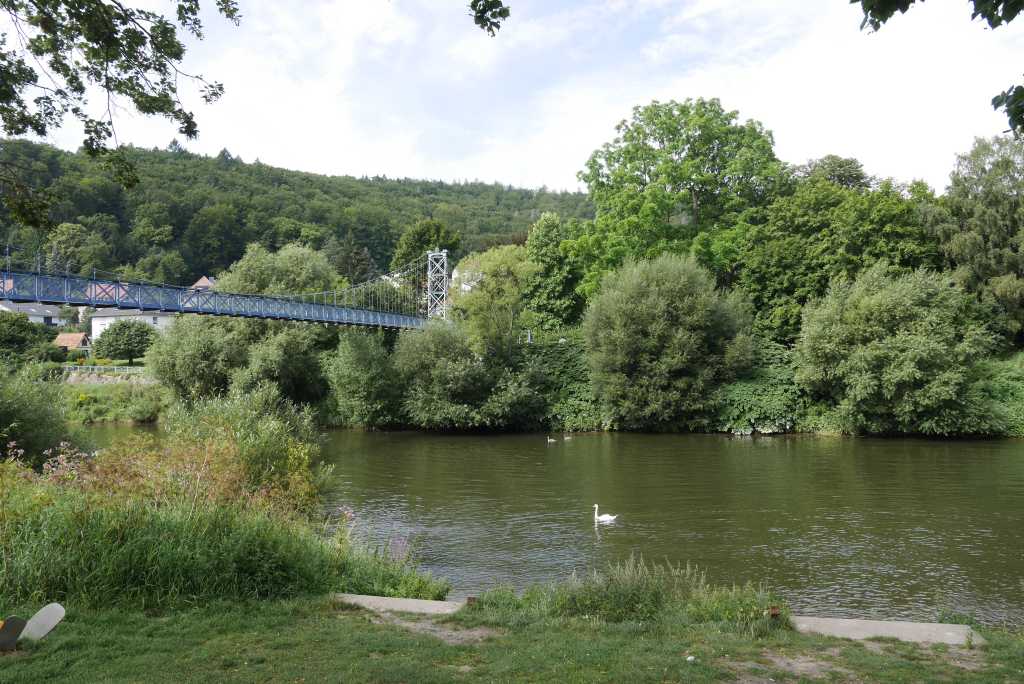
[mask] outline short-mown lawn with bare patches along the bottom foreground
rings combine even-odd
[[[5,612],[9,612],[7,608]],[[23,614],[30,609],[23,609]],[[407,625],[417,618],[404,618]],[[422,618],[426,621],[427,618]],[[462,617],[438,629],[458,635]],[[716,625],[546,617],[446,643],[327,598],[214,603],[158,614],[83,611],[0,655],[4,682],[1016,682],[1024,636],[974,649],[853,642]],[[444,636],[442,633],[441,636]],[[692,662],[687,656],[693,655]]]

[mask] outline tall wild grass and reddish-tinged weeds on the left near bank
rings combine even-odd
[[[0,604],[447,593],[409,559],[354,544],[344,525],[321,532],[302,412],[263,392],[172,414],[160,443],[62,446],[36,470],[0,462]]]

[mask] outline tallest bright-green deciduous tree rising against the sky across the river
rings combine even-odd
[[[717,99],[638,106],[616,131],[580,173],[597,218],[567,249],[586,295],[627,259],[685,252],[697,233],[767,204],[783,177],[771,134]]]

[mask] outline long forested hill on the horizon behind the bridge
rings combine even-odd
[[[386,270],[401,231],[420,219],[461,233],[467,252],[523,241],[546,211],[593,214],[582,193],[323,176],[245,163],[226,151],[194,155],[173,142],[165,151],[131,149],[130,158],[139,182],[126,189],[82,153],[3,141],[0,163],[31,169],[33,184],[54,197],[56,227],[48,234],[20,227],[0,206],[0,237],[60,269],[190,283],[225,268],[253,242],[270,249],[300,242],[327,254],[366,248]]]

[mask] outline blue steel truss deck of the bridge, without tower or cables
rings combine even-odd
[[[375,328],[422,328],[426,324],[425,318],[404,313],[298,299],[232,295],[167,285],[102,281],[79,275],[48,275],[15,270],[0,270],[0,299],[93,308],[173,311]]]

